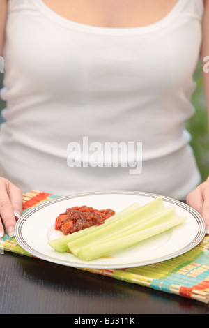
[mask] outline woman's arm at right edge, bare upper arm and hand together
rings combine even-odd
[[[206,105],[209,121],[209,0],[204,1],[203,15],[203,43],[201,47],[201,59],[203,63],[203,84],[206,96]],[[199,211],[206,221],[209,233],[209,177],[187,196],[187,204]]]

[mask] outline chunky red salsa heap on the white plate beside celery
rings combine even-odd
[[[91,225],[101,225],[106,218],[113,216],[112,209],[93,209],[87,206],[75,206],[66,209],[65,213],[59,214],[55,221],[55,229],[63,234],[72,234],[79,230],[91,227]]]

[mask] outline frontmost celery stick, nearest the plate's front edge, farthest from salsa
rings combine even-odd
[[[83,261],[91,261],[104,255],[123,251],[125,248],[138,244],[139,241],[143,241],[157,234],[165,232],[175,227],[176,225],[185,222],[185,220],[186,218],[179,216],[171,221],[153,225],[153,227],[135,232],[125,237],[116,238],[114,240],[106,241],[95,246],[90,245],[89,247],[84,247],[79,253],[79,258]]]

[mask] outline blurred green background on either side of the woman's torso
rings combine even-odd
[[[192,103],[195,107],[194,116],[187,121],[186,128],[192,135],[191,146],[194,149],[197,165],[201,172],[203,181],[209,176],[209,133],[208,133],[208,117],[206,112],[206,100],[203,91],[203,80],[201,75],[201,63],[199,63],[196,73],[194,74],[196,81],[196,91],[192,96]],[[3,73],[0,73],[0,89],[3,82]],[[6,107],[0,99],[0,124],[3,123],[1,110]],[[1,155],[0,155],[1,156]]]

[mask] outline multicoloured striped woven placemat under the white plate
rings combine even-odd
[[[24,194],[23,214],[42,202],[47,202],[57,198],[57,195],[43,193],[40,191],[30,191]],[[6,234],[0,239],[0,253],[11,251],[22,255],[31,256],[24,251],[15,238],[10,238]],[[128,283],[136,283],[148,288],[160,290],[170,294],[180,295],[209,303],[209,236],[207,235],[201,243],[191,251],[156,264],[143,267],[127,269],[81,269],[93,274],[109,276]]]

